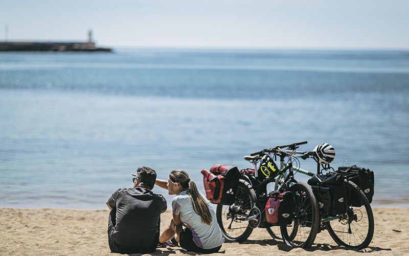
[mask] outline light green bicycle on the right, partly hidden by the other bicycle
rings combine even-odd
[[[268,150],[265,150],[268,152]],[[298,152],[295,147],[290,148],[287,151],[291,155],[301,155],[302,159],[313,158],[314,152]],[[317,162],[317,161],[316,161]],[[294,167],[298,173],[308,175],[310,177],[314,176],[308,170],[302,169],[299,166]],[[317,162],[316,174],[322,174],[323,170],[333,172],[334,169],[329,166],[321,165]],[[275,186],[278,187],[286,179],[286,173],[281,173],[276,178]],[[331,238],[341,246],[349,247],[355,250],[360,250],[368,247],[371,243],[374,233],[374,217],[371,205],[363,193],[363,191],[352,181],[344,177],[344,186],[347,191],[347,208],[342,214],[324,214],[321,210],[320,212],[320,228],[319,232],[327,229]],[[351,202],[359,201],[361,206],[354,206]]]

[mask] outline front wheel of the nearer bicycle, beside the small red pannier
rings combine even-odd
[[[314,194],[311,187],[304,182],[293,184],[289,190],[295,194],[296,206],[291,225],[280,226],[283,240],[292,247],[309,248],[320,226],[320,216]]]

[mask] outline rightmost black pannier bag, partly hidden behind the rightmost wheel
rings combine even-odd
[[[337,173],[355,183],[368,198],[369,203],[372,202],[375,182],[374,172],[372,172],[372,170],[352,165],[349,167],[338,167]],[[351,203],[352,206],[363,205],[363,202],[361,202],[360,197],[357,195],[351,195]]]

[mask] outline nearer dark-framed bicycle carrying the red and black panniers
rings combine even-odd
[[[303,143],[306,142],[270,148],[268,154],[280,157],[278,176],[285,173],[285,177],[281,176],[284,179],[277,189],[291,191],[296,198],[294,218],[290,225],[280,226],[281,236],[289,246],[309,248],[319,230],[319,208],[311,187],[304,182],[297,182],[293,177],[294,157],[281,149],[296,147]],[[265,151],[260,151],[244,157],[254,168],[241,170],[234,203],[217,205],[217,222],[227,241],[244,242],[256,227],[266,228],[273,238],[279,239],[270,228],[277,225],[268,223],[265,219],[265,205],[269,198],[267,187],[277,184],[275,176],[258,175],[257,164],[265,154]]]

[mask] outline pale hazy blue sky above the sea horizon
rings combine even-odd
[[[409,49],[409,1],[0,0],[0,41],[88,29],[108,47]]]

